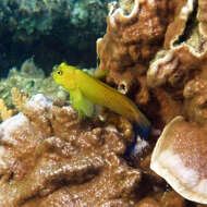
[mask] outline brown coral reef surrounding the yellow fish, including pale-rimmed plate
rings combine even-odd
[[[132,98],[154,126],[131,157],[127,120],[104,111],[102,121],[80,121],[70,106],[42,95],[27,100],[13,89],[21,112],[0,124],[1,206],[205,206],[187,199],[207,204],[206,5],[206,0],[111,3],[107,33],[97,40],[98,71],[109,70],[106,81]],[[71,10],[75,25],[86,17],[78,9]],[[12,81],[20,73],[13,70],[9,80],[27,86],[31,76],[23,68],[24,78]],[[35,85],[44,85],[44,74],[37,74]],[[52,97],[50,78],[46,86]],[[41,92],[33,87],[31,94]]]

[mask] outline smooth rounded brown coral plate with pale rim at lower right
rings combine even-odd
[[[173,119],[163,130],[150,168],[183,197],[207,204],[207,129]]]

